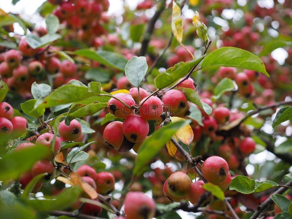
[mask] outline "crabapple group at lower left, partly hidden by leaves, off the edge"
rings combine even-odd
[[[23,117],[21,117],[23,118]],[[69,149],[61,149],[61,142],[62,141],[78,141],[78,138],[82,136],[81,125],[77,120],[72,120],[70,125],[67,127],[65,125],[65,121],[63,120],[58,128],[58,133],[60,136],[57,136],[54,140],[54,134],[46,132],[39,136],[31,137],[26,139],[26,142],[19,144],[15,148],[16,151],[23,150],[25,148],[36,147],[36,146],[44,146],[48,148],[48,152],[45,156],[43,156],[40,160],[36,161],[30,170],[23,172],[19,177],[19,183],[21,184],[21,188],[24,189],[27,184],[33,179],[33,177],[47,173],[43,176],[42,179],[36,184],[33,189],[33,193],[36,193],[40,190],[43,183],[50,182],[55,174],[56,174],[56,167],[53,163],[53,158],[60,152],[63,153],[63,156],[66,157],[68,154]],[[37,137],[37,138],[36,138]],[[53,151],[50,151],[52,141],[54,142]]]

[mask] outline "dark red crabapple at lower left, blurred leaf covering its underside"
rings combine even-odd
[[[50,182],[56,174],[56,168],[53,162],[48,159],[40,159],[36,161],[31,168],[31,175],[35,177],[42,173],[48,173],[48,175],[40,179],[40,182]]]

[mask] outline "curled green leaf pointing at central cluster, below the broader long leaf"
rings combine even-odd
[[[74,106],[76,106],[76,105],[74,105]],[[81,104],[78,104],[78,106],[80,106],[80,105]],[[70,108],[69,113],[65,119],[65,124],[68,126],[74,118],[89,116],[89,115],[92,115],[94,113],[97,113],[98,111],[100,111],[102,109],[105,109],[107,107],[107,103],[93,102],[92,104],[89,104],[89,105],[82,105],[81,108],[79,108],[75,111],[74,111],[74,106],[72,106]],[[73,110],[71,111],[71,109],[73,109]]]

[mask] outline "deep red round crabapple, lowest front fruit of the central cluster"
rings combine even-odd
[[[130,142],[140,142],[148,135],[149,123],[141,116],[130,115],[122,125],[123,134]]]

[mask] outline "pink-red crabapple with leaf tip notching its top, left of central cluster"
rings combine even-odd
[[[74,141],[82,134],[81,124],[77,120],[72,120],[67,126],[65,120],[59,124],[58,132],[66,141]]]

